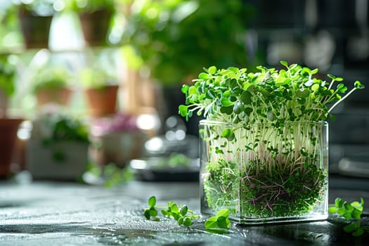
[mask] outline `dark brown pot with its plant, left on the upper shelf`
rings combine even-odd
[[[20,27],[26,48],[47,48],[53,0],[22,0],[17,4]]]

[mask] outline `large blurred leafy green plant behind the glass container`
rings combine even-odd
[[[123,44],[131,44],[164,86],[202,67],[246,66],[245,32],[253,9],[242,0],[134,1]]]

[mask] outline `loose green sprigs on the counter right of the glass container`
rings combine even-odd
[[[335,205],[330,206],[328,212],[331,214],[339,214],[347,220],[355,220],[353,223],[344,226],[344,231],[357,237],[363,235],[365,231],[369,233],[369,226],[361,226],[361,214],[363,214],[363,209],[363,198],[361,198],[360,202],[347,202],[342,198],[336,198]]]

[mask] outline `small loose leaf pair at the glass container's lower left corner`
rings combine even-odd
[[[228,219],[229,210],[221,209],[215,216],[205,221],[205,228],[212,233],[228,233],[231,227],[231,221]]]

